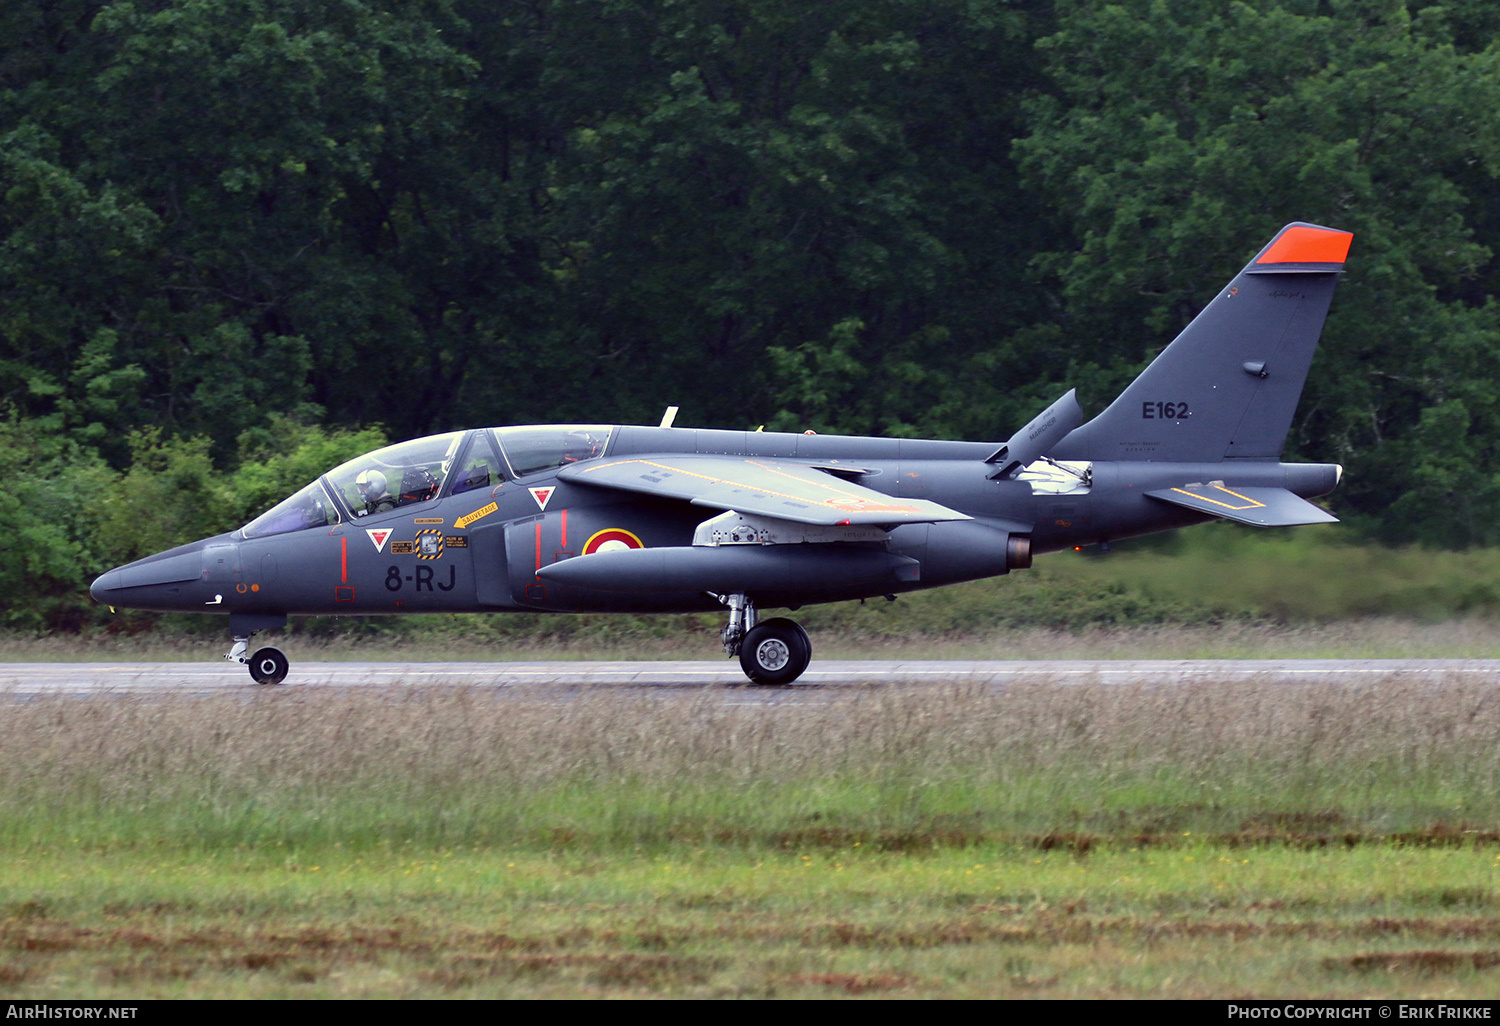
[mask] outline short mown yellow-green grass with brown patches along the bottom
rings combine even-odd
[[[8,855],[10,998],[1467,996],[1492,850]]]

